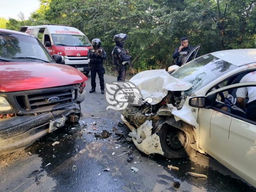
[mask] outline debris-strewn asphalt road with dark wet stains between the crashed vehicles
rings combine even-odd
[[[115,79],[105,76],[107,82]],[[98,82],[96,93],[90,94],[90,89],[89,75],[80,125],[62,127],[22,151],[0,156],[0,191],[256,191],[209,156],[169,160],[143,154],[124,137],[118,140],[113,127],[123,130],[125,136],[129,133],[128,128],[117,126],[120,113],[106,110]],[[97,124],[84,126],[82,121]],[[96,139],[84,129],[108,130],[112,135]],[[59,144],[53,146],[55,141]],[[135,156],[130,163],[127,154],[122,155],[128,150]],[[168,165],[179,170],[169,170]],[[132,166],[138,172],[132,172]],[[186,172],[208,178],[192,177]],[[181,180],[179,189],[173,188],[173,179]]]

